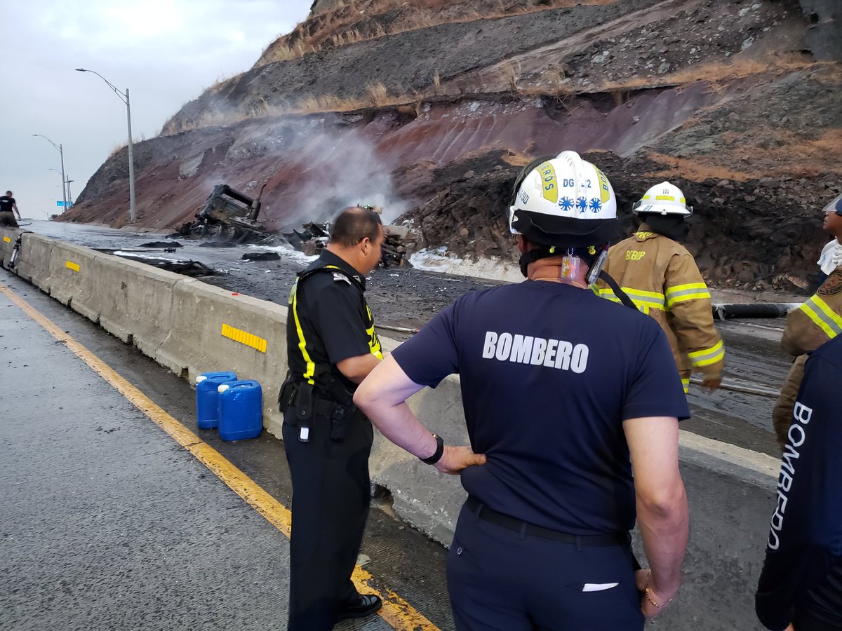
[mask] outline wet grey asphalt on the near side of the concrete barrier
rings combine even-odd
[[[0,292],[0,628],[285,628],[282,528],[195,455],[216,449],[283,512],[283,443],[198,430],[184,380],[19,278],[0,272],[0,285],[71,338],[56,340]],[[173,440],[83,363],[76,342],[198,439]],[[393,592],[391,609],[336,628],[453,628],[445,549],[392,517],[388,499],[372,508],[360,564],[366,586]]]

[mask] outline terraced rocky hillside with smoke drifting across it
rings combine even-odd
[[[177,227],[216,183],[266,225],[370,202],[429,247],[514,257],[520,165],[589,152],[630,208],[669,178],[711,284],[806,288],[842,192],[836,0],[317,0],[248,72],[135,146],[138,223]],[[65,220],[126,220],[118,152]],[[632,218],[626,215],[626,228]]]

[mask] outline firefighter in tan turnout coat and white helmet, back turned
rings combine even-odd
[[[669,339],[685,393],[690,374],[701,372],[702,387],[722,383],[725,348],[713,326],[711,294],[690,252],[676,241],[693,212],[681,190],[663,182],[632,207],[643,223],[634,235],[610,248],[605,270],[637,308],[652,316]],[[603,284],[599,294],[618,300]]]

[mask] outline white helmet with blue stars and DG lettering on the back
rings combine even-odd
[[[616,218],[608,178],[576,151],[527,165],[509,199],[509,230],[549,246],[600,246],[615,236]]]

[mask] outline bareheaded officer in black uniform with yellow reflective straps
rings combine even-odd
[[[382,359],[363,295],[382,243],[379,215],[344,209],[327,247],[290,292],[290,375],[279,395],[293,490],[290,631],[333,628],[382,604],[350,580],[369,510],[373,437],[352,396]]]

